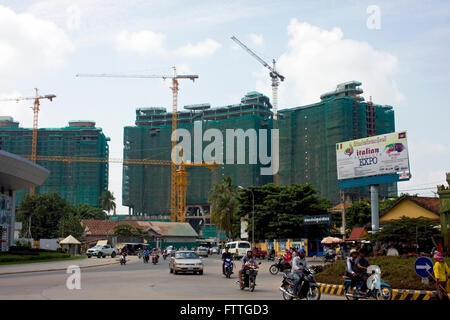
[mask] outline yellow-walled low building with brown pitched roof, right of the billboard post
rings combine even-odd
[[[380,224],[402,217],[424,217],[439,222],[439,198],[402,196],[380,214]]]

